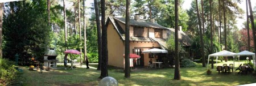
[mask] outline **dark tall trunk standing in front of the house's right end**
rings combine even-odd
[[[178,20],[179,20],[179,0],[174,2],[175,12],[175,68],[174,68],[174,79],[180,80],[180,58],[179,58],[179,41],[178,41]]]

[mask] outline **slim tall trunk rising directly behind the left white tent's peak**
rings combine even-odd
[[[226,46],[226,7],[225,7],[226,0],[223,2],[223,16],[224,16],[224,45],[225,45],[225,50],[228,49]],[[228,57],[225,57],[225,62],[228,61]]]

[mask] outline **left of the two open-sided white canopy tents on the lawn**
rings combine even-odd
[[[226,50],[222,50],[217,53],[210,54],[210,55],[208,55],[207,70],[208,70],[210,57],[216,57],[216,60],[218,60],[218,57],[233,57],[234,58],[235,56],[236,56],[236,53],[233,53],[231,51],[226,51]],[[216,61],[216,66],[217,66],[217,62],[218,61]]]

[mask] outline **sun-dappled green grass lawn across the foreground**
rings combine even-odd
[[[226,63],[233,63],[229,61]],[[243,62],[240,62],[243,63]],[[217,65],[222,65],[218,63]],[[216,66],[216,65],[214,65]],[[235,69],[238,63],[235,63]],[[100,71],[97,65],[90,65],[91,68],[75,68],[75,70],[52,70],[40,74],[38,71],[29,71],[28,67],[23,68],[23,74],[19,77],[22,85],[98,85]],[[210,68],[210,67],[209,67]],[[181,80],[173,80],[174,68],[143,68],[134,69],[131,78],[124,78],[123,70],[109,68],[109,76],[118,80],[119,85],[241,85],[256,83],[252,74],[240,75],[238,71],[231,74],[218,74],[216,68],[212,69],[212,75],[206,74],[207,68],[198,64],[196,67],[180,68]]]

